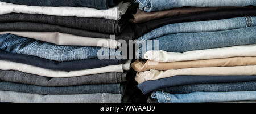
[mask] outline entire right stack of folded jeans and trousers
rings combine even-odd
[[[255,0],[137,0],[138,58],[148,102],[256,100]]]

